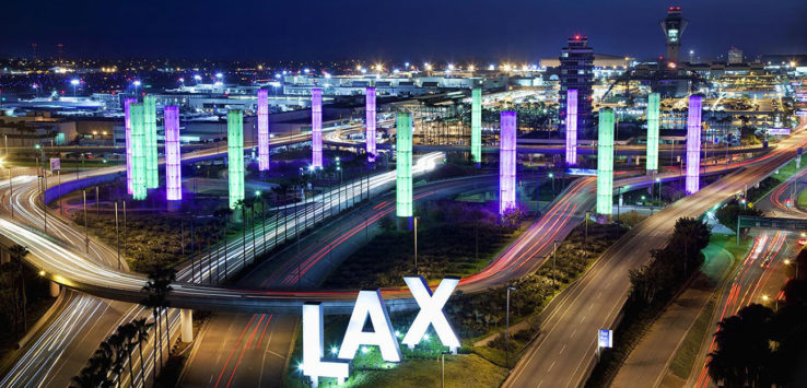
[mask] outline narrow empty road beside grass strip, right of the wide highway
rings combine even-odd
[[[715,244],[706,246],[703,254],[706,263],[701,273],[653,322],[620,367],[611,384],[612,387],[635,387],[639,381],[645,387],[656,387],[660,384],[687,332],[734,261],[729,251]]]

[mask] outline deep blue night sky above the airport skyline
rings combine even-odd
[[[580,33],[596,52],[641,59],[664,54],[668,5],[691,22],[682,52],[704,60],[732,45],[807,52],[806,0],[15,0],[0,56],[62,43],[68,58],[537,61]]]

